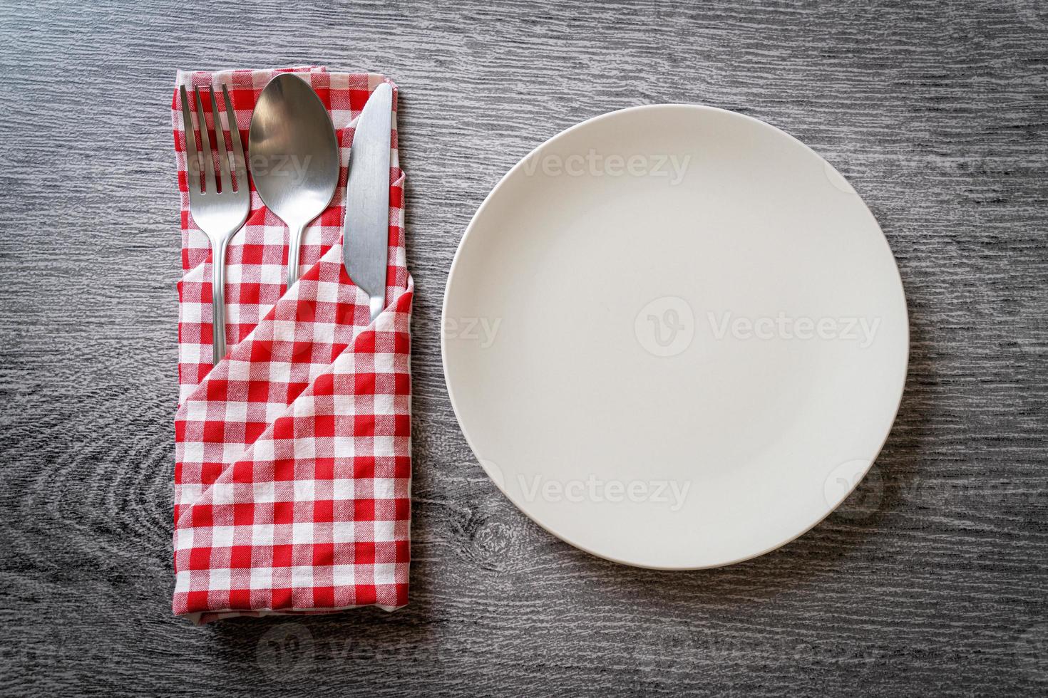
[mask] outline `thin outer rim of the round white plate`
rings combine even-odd
[[[614,117],[619,116],[621,114],[625,114],[627,112],[672,111],[672,110],[678,110],[678,109],[684,110],[684,111],[714,112],[714,113],[724,114],[724,115],[727,115],[727,116],[733,117],[733,118],[741,118],[743,120],[747,120],[747,121],[756,125],[757,127],[759,127],[759,128],[761,128],[763,130],[769,130],[769,131],[773,132],[777,135],[785,136],[786,138],[788,138],[792,142],[801,145],[808,153],[814,155],[820,160],[822,160],[823,165],[825,167],[831,168],[838,177],[840,177],[842,181],[844,181],[844,182],[847,183],[848,187],[852,190],[852,193],[858,199],[859,204],[866,209],[866,212],[869,216],[870,220],[873,222],[873,225],[876,227],[877,232],[880,233],[880,242],[887,248],[889,255],[891,255],[891,258],[892,258],[892,262],[893,262],[892,267],[893,267],[894,271],[895,271],[896,282],[898,283],[898,288],[899,288],[899,290],[900,290],[900,292],[902,294],[902,320],[903,320],[902,331],[903,331],[903,339],[904,339],[904,342],[905,342],[905,344],[904,344],[905,351],[903,352],[903,356],[902,356],[902,371],[901,371],[902,381],[901,381],[901,384],[899,386],[898,396],[895,399],[895,407],[892,410],[892,419],[888,423],[888,428],[887,428],[883,436],[879,440],[880,443],[877,446],[876,451],[874,452],[873,456],[871,457],[869,465],[867,465],[867,467],[865,469],[863,469],[861,476],[855,478],[855,482],[849,488],[848,492],[840,498],[840,500],[835,505],[829,508],[829,510],[825,514],[823,514],[822,516],[817,517],[810,525],[808,525],[807,527],[805,527],[803,531],[801,531],[801,532],[799,532],[799,533],[796,533],[796,534],[794,534],[794,535],[792,535],[792,536],[790,536],[790,537],[788,537],[788,538],[786,538],[784,540],[782,540],[779,543],[776,543],[776,544],[773,544],[773,545],[771,545],[771,546],[769,546],[769,547],[767,547],[765,549],[762,549],[762,550],[760,550],[758,553],[751,553],[751,554],[743,555],[741,557],[734,558],[732,560],[727,560],[727,561],[724,561],[724,562],[718,562],[716,564],[705,564],[705,565],[652,565],[652,564],[641,564],[641,563],[632,562],[632,561],[628,561],[628,560],[620,560],[620,559],[617,559],[617,558],[615,558],[613,556],[610,556],[608,554],[598,553],[596,550],[593,550],[593,549],[587,547],[586,545],[583,545],[583,544],[581,544],[581,543],[578,543],[578,542],[576,542],[574,540],[571,540],[570,538],[568,538],[568,537],[564,536],[564,535],[562,535],[562,534],[553,531],[552,528],[550,528],[549,526],[547,526],[545,523],[543,523],[539,519],[534,518],[533,516],[531,516],[506,491],[506,489],[503,487],[503,485],[501,482],[499,482],[499,479],[492,474],[492,471],[488,469],[488,467],[484,463],[484,458],[480,457],[480,455],[477,453],[477,448],[474,446],[473,441],[470,438],[470,434],[466,433],[466,430],[465,430],[465,428],[462,425],[462,418],[461,418],[461,414],[460,414],[458,402],[455,399],[455,391],[454,391],[454,389],[452,387],[451,376],[450,376],[450,374],[447,371],[447,339],[449,339],[449,337],[447,337],[447,334],[443,331],[443,328],[445,327],[445,318],[447,317],[447,299],[450,297],[450,292],[451,292],[451,289],[452,289],[452,283],[453,283],[453,280],[455,278],[455,270],[458,267],[458,264],[459,264],[459,261],[460,261],[460,256],[461,256],[461,253],[462,253],[462,248],[465,246],[466,241],[470,239],[470,234],[474,232],[474,229],[476,228],[476,225],[477,225],[477,220],[481,217],[481,215],[487,208],[487,206],[488,206],[489,202],[492,201],[492,199],[495,198],[498,195],[498,193],[500,192],[500,189],[502,189],[502,187],[506,184],[506,182],[509,180],[509,178],[519,168],[521,168],[521,167],[523,167],[525,165],[525,162],[527,162],[532,156],[536,156],[540,151],[542,151],[544,148],[546,148],[552,141],[558,140],[561,137],[567,136],[568,134],[570,134],[572,132],[574,132],[576,130],[581,130],[581,129],[583,129],[583,128],[585,128],[585,127],[587,127],[587,126],[589,126],[591,123],[594,123],[596,121],[601,121],[601,120],[609,119],[609,118],[614,118]],[[452,404],[452,412],[455,414],[455,421],[458,423],[459,431],[462,433],[462,436],[465,440],[466,446],[470,447],[470,451],[473,453],[474,458],[476,458],[477,464],[484,471],[484,474],[495,485],[495,487],[503,494],[503,496],[505,496],[505,498],[508,499],[510,501],[510,503],[512,503],[512,505],[517,508],[517,510],[521,514],[523,514],[525,517],[527,517],[527,519],[529,521],[532,521],[540,528],[542,528],[543,531],[547,532],[548,534],[550,534],[551,536],[553,536],[558,540],[564,541],[565,543],[571,545],[572,547],[575,547],[575,548],[577,548],[580,550],[583,550],[584,553],[588,553],[589,555],[592,555],[592,556],[594,556],[596,558],[599,558],[599,559],[603,559],[603,560],[608,560],[609,562],[614,562],[614,563],[619,564],[619,565],[625,565],[625,566],[629,566],[629,567],[636,567],[636,568],[639,568],[639,569],[654,569],[654,570],[665,570],[665,571],[691,571],[691,570],[699,570],[699,569],[718,569],[720,567],[727,567],[727,566],[730,566],[730,565],[736,565],[736,564],[739,564],[739,563],[742,563],[742,562],[746,562],[747,560],[752,560],[755,558],[760,558],[760,557],[765,556],[765,555],[767,555],[769,553],[778,550],[781,547],[789,545],[790,543],[792,543],[793,541],[795,541],[796,539],[801,538],[802,536],[804,536],[805,534],[807,534],[808,532],[810,532],[812,528],[814,528],[815,526],[817,526],[820,523],[822,523],[823,521],[825,521],[833,512],[835,512],[855,492],[855,490],[858,489],[859,485],[861,485],[863,481],[866,480],[867,476],[870,474],[870,471],[873,469],[874,464],[877,461],[877,458],[880,456],[880,453],[883,451],[885,445],[888,443],[888,438],[891,436],[892,430],[895,427],[895,422],[898,419],[899,410],[900,410],[900,408],[902,406],[902,398],[905,395],[907,383],[909,382],[909,378],[910,378],[910,351],[911,351],[911,348],[912,348],[912,344],[911,344],[911,341],[910,341],[910,303],[908,302],[908,298],[907,298],[905,286],[902,283],[902,274],[899,271],[898,258],[895,256],[895,252],[892,250],[891,244],[889,244],[889,242],[888,242],[888,235],[885,234],[883,229],[880,227],[880,222],[877,221],[877,218],[873,215],[873,211],[870,210],[870,207],[866,203],[866,200],[858,194],[858,192],[854,188],[854,186],[852,186],[851,182],[849,182],[847,180],[847,178],[844,175],[842,175],[840,172],[836,167],[834,167],[833,164],[831,162],[829,162],[826,158],[824,158],[822,155],[820,155],[817,152],[815,152],[807,143],[805,143],[804,141],[800,140],[795,136],[787,133],[786,131],[783,131],[782,129],[780,129],[780,128],[778,128],[776,126],[772,126],[771,123],[768,123],[767,121],[763,121],[763,120],[761,120],[761,119],[759,119],[759,118],[757,118],[755,116],[749,116],[748,114],[742,114],[740,112],[732,111],[729,109],[722,109],[720,107],[711,107],[708,105],[699,105],[699,104],[659,103],[659,104],[654,104],[654,105],[637,105],[637,106],[634,106],[634,107],[626,107],[626,108],[623,108],[623,109],[616,109],[616,110],[613,110],[613,111],[610,111],[610,112],[605,112],[603,114],[597,114],[595,116],[591,116],[591,117],[589,117],[587,119],[584,119],[582,121],[578,121],[577,123],[574,123],[574,125],[568,127],[567,129],[559,131],[558,133],[553,134],[549,138],[546,138],[546,140],[542,141],[541,143],[539,143],[538,145],[536,145],[533,149],[531,149],[530,151],[528,151],[528,153],[526,155],[524,155],[520,160],[518,160],[517,163],[515,163],[514,166],[510,167],[499,179],[499,181],[492,188],[492,190],[487,193],[487,196],[484,197],[484,200],[481,202],[480,206],[477,207],[477,210],[474,211],[473,217],[470,219],[470,223],[466,225],[465,232],[462,233],[462,238],[459,240],[458,245],[455,248],[455,255],[453,256],[451,267],[449,267],[449,270],[447,270],[447,280],[444,283],[444,295],[443,295],[443,298],[441,299],[441,303],[440,303],[440,367],[441,367],[441,370],[444,374],[444,386],[447,389],[447,398],[449,398],[449,401]]]

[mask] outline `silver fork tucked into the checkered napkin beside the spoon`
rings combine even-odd
[[[237,188],[233,188],[230,178],[230,158],[225,150],[225,135],[222,132],[222,120],[219,117],[218,105],[215,104],[215,90],[210,90],[211,114],[215,121],[215,140],[218,145],[218,167],[221,176],[221,188],[215,185],[214,155],[211,150],[211,139],[208,137],[208,122],[203,117],[203,100],[200,98],[200,88],[195,87],[197,122],[200,125],[200,150],[197,150],[196,138],[193,135],[192,108],[185,86],[181,86],[182,123],[185,129],[185,171],[190,190],[190,213],[197,227],[203,230],[211,241],[211,309],[212,309],[212,348],[214,363],[217,364],[225,356],[225,248],[247,220],[250,210],[252,197],[247,185],[247,167],[244,159],[244,148],[240,144],[240,131],[237,129],[236,112],[230,100],[230,91],[222,86],[222,96],[225,98],[225,118],[230,123],[230,141],[233,150],[234,172],[237,176]],[[200,161],[201,151],[203,162]],[[203,188],[200,189],[200,168],[203,168]]]

